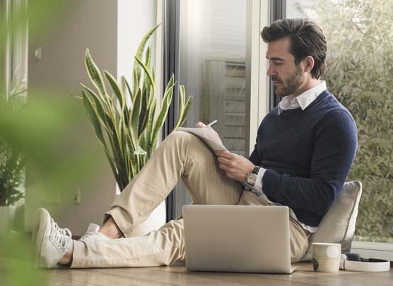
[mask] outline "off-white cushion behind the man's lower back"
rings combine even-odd
[[[338,198],[319,222],[317,232],[310,236],[310,245],[302,261],[311,260],[313,242],[339,243],[342,253],[351,250],[361,195],[360,181],[349,181],[344,184]]]

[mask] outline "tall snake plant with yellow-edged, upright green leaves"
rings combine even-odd
[[[90,56],[89,49],[86,49],[86,70],[95,90],[81,83],[81,98],[88,121],[105,151],[120,191],[138,174],[156,149],[159,131],[172,102],[175,88],[173,76],[166,85],[161,109],[156,112],[155,73],[148,39],[157,28],[158,25],[148,31],[139,44],[132,85],[123,76],[124,90],[110,73],[104,71],[111,90],[107,89],[102,73]],[[186,100],[184,86],[180,85],[179,118],[174,131],[184,123],[191,102],[192,96]]]

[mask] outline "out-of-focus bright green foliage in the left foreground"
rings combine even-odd
[[[32,0],[28,1],[28,12],[25,9],[13,11],[8,22],[1,16],[0,51],[4,50],[7,33],[23,28],[26,18],[31,43],[50,32],[57,20],[61,20],[64,9],[74,3],[76,1]],[[5,90],[4,86],[0,86],[0,90]],[[81,125],[86,124],[83,107],[69,97],[67,90],[28,88],[27,94],[26,105],[19,112],[0,112],[0,137],[14,150],[25,154],[28,191],[73,193],[71,190],[92,179],[101,162],[97,156],[100,146],[81,142],[77,136]],[[32,204],[37,199],[30,197]],[[23,225],[23,219],[24,216],[19,215],[21,221],[16,225]],[[44,273],[35,270],[30,260],[29,235],[0,233],[0,285],[46,285]]]

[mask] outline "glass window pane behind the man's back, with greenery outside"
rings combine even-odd
[[[312,18],[324,30],[324,79],[358,126],[359,148],[348,177],[363,184],[356,240],[393,242],[392,1],[286,3],[288,18]]]

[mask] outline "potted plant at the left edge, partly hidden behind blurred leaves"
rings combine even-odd
[[[22,85],[16,85],[9,95],[0,94],[0,112],[12,116],[24,103]],[[25,177],[23,154],[0,135],[0,232],[11,227],[15,204],[23,198]]]

